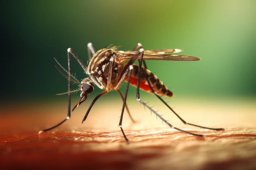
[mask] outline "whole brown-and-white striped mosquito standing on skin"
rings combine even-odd
[[[200,128],[206,128],[211,130],[224,130],[223,128],[207,128],[204,126],[198,126],[195,124],[190,124],[184,121],[174,110],[171,108],[161,97],[172,97],[173,93],[168,90],[166,86],[157,78],[156,75],[151,73],[147,66],[145,60],[163,60],[163,61],[198,61],[201,60],[198,57],[188,56],[188,55],[176,55],[173,53],[178,53],[183,50],[181,49],[166,49],[166,50],[147,50],[144,51],[142,45],[140,43],[135,46],[132,51],[117,51],[118,46],[107,46],[99,51],[95,52],[92,43],[88,43],[88,55],[89,60],[87,62],[87,66],[82,62],[82,60],[76,55],[76,53],[71,49],[67,49],[67,60],[68,60],[68,70],[66,70],[56,59],[57,64],[65,71],[63,73],[58,67],[58,71],[60,71],[65,77],[68,79],[68,102],[67,102],[67,117],[61,121],[59,124],[53,126],[52,128],[48,128],[45,130],[39,131],[46,132],[48,130],[52,130],[61,124],[63,124],[67,119],[70,119],[71,116],[71,93],[74,91],[81,91],[79,102],[73,107],[72,111],[79,107],[81,103],[83,103],[87,96],[94,91],[94,85],[96,84],[99,88],[104,90],[99,95],[97,95],[92,103],[90,104],[85,116],[83,117],[82,123],[87,118],[92,106],[95,104],[99,97],[106,95],[108,92],[115,90],[119,93],[123,100],[123,106],[121,110],[121,116],[119,121],[119,128],[121,129],[122,134],[126,141],[129,141],[126,137],[124,130],[122,128],[122,120],[124,115],[124,110],[128,111],[128,115],[131,120],[134,121],[130,115],[128,107],[126,105],[126,99],[128,95],[129,86],[137,87],[136,90],[136,99],[143,104],[146,108],[150,110],[151,113],[154,113],[157,117],[159,117],[164,123],[166,123],[170,128],[179,130],[181,132],[187,133],[189,135],[194,135],[196,137],[205,137],[205,135],[199,135],[192,132],[188,132],[182,130],[180,128],[176,128],[171,125],[166,119],[164,119],[161,115],[159,115],[153,108],[148,106],[147,103],[143,102],[140,98],[139,92],[140,89],[146,91],[148,93],[154,94],[161,102],[164,103],[184,124],[197,126]],[[85,79],[79,82],[71,73],[71,57],[73,56],[77,62],[81,65],[85,73],[88,75]],[[90,57],[91,56],[91,57]],[[134,64],[134,62],[138,60],[139,65]],[[142,63],[144,66],[142,66]],[[71,91],[71,82],[75,82],[79,84],[79,88]],[[121,85],[127,82],[126,91],[124,96],[122,95],[119,88]],[[62,93],[65,94],[65,93]]]

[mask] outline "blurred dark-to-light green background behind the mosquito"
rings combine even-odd
[[[140,42],[145,50],[184,49],[181,54],[202,58],[147,62],[176,96],[256,96],[255,0],[12,0],[0,4],[2,101],[56,99],[56,93],[67,91],[67,79],[54,67],[53,57],[67,68],[71,47],[86,63],[88,42],[96,50],[115,44],[123,51]],[[72,69],[78,79],[86,77],[75,60]],[[99,94],[101,90],[95,89],[94,94]],[[135,88],[130,90],[135,99]]]

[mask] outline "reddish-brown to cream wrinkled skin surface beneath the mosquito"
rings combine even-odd
[[[215,103],[218,106],[216,112],[211,109],[212,104],[204,103],[198,113],[199,107],[195,106],[197,102],[173,103],[187,120],[223,127],[225,132],[185,126],[174,116],[169,118],[172,115],[168,109],[159,111],[176,126],[207,135],[200,138],[168,128],[145,111],[143,106],[129,100],[128,106],[136,123],[130,121],[127,113],[124,114],[123,128],[130,140],[127,143],[117,126],[122,102],[115,101],[115,105],[112,105],[113,102],[103,97],[84,124],[81,124],[88,107],[88,104],[84,104],[79,107],[80,110],[72,113],[71,119],[65,124],[40,135],[38,130],[65,117],[65,104],[51,101],[17,104],[16,107],[2,106],[1,167],[104,170],[256,168],[254,104],[221,106]],[[159,104],[157,100],[151,102],[156,107]]]

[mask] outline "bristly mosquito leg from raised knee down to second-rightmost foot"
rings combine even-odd
[[[195,133],[191,133],[191,132],[187,132],[185,130],[182,130],[182,129],[179,129],[179,128],[176,128],[174,127],[173,125],[171,125],[168,121],[166,121],[161,115],[159,115],[155,110],[153,110],[150,106],[148,106],[145,102],[143,102],[141,99],[140,99],[140,96],[139,96],[139,84],[140,84],[140,73],[141,73],[141,66],[142,66],[142,62],[143,62],[143,49],[139,50],[141,51],[141,54],[140,54],[140,59],[139,59],[139,68],[138,68],[138,74],[137,74],[137,92],[136,92],[136,98],[137,100],[143,104],[146,108],[148,108],[151,112],[153,112],[157,117],[159,117],[164,123],[166,123],[170,128],[173,128],[173,129],[176,129],[176,130],[179,130],[181,132],[184,132],[184,133],[187,133],[187,134],[190,134],[190,135],[194,135],[194,136],[197,136],[197,137],[205,137],[204,135],[198,135],[198,134],[195,134]],[[148,82],[149,83],[149,82]],[[150,85],[150,84],[149,84]],[[152,88],[152,87],[151,87]]]

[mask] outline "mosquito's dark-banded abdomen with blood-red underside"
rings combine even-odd
[[[135,64],[132,64],[132,66],[133,66],[133,69],[132,69],[132,75],[130,78],[130,84],[132,86],[137,87],[137,74],[138,74],[139,66],[137,66]],[[173,93],[171,91],[169,91],[166,86],[164,86],[164,84],[157,78],[156,75],[151,73],[148,69],[141,67],[139,88],[148,93],[152,93],[152,91],[150,90],[150,87],[148,86],[148,82],[146,79],[149,80],[150,85],[152,86],[152,88],[158,95],[160,95],[160,96],[164,95],[167,97],[173,96]],[[125,81],[127,82],[127,80],[128,80],[128,76],[126,77]]]

